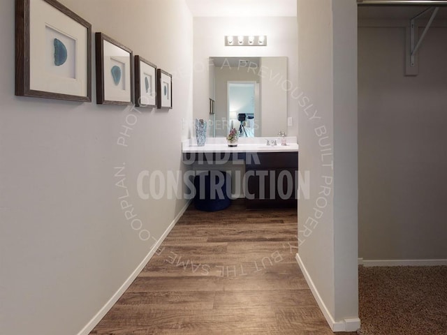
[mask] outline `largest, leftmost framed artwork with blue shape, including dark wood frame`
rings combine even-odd
[[[56,0],[15,0],[15,95],[91,101],[91,24]]]

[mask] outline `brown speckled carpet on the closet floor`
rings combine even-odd
[[[446,335],[447,267],[359,267],[361,335]]]

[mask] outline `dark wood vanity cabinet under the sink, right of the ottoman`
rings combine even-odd
[[[296,207],[298,152],[257,152],[250,158],[245,162],[247,208]]]

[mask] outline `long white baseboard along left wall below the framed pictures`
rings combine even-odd
[[[82,330],[78,333],[78,335],[88,335],[91,332],[91,330],[94,329],[94,327],[96,327],[96,325],[98,325],[98,323],[102,320],[102,318],[104,318],[105,314],[107,314],[107,312],[110,311],[110,308],[112,308],[113,305],[116,304],[118,299],[124,294],[124,292],[126,292],[126,290],[129,288],[129,286],[133,283],[135,278],[138,277],[138,274],[140,274],[142,269],[145,268],[145,266],[147,265],[149,260],[151,260],[152,256],[155,254],[155,252],[157,251],[159,246],[163,243],[164,239],[166,239],[166,237],[168,236],[170,231],[174,228],[174,226],[177,224],[179,219],[182,217],[182,215],[184,214],[186,209],[189,207],[189,204],[191,203],[191,201],[192,200],[189,200],[189,202],[187,202],[185,204],[185,206],[182,208],[182,210],[179,212],[179,214],[177,214],[177,216],[175,216],[173,222],[171,222],[169,227],[166,228],[165,232],[163,232],[163,234],[161,235],[159,240],[156,241],[156,244],[154,244],[152,249],[146,255],[145,259],[142,260],[142,262],[140,262],[140,265],[138,265],[138,267],[132,272],[132,274],[129,276],[129,278],[127,278],[126,281],[124,281],[123,285],[121,285],[121,287],[117,290],[117,292],[115,292],[115,294],[109,299],[109,301],[107,301],[107,303],[105,303],[103,308],[101,308],[98,311],[98,313],[96,313],[96,315],[89,321],[89,323],[87,323],[87,325],[85,325],[85,327],[82,328]]]

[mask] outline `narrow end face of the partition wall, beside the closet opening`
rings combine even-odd
[[[358,319],[357,1],[333,0],[335,320]],[[349,322],[352,322],[349,324]],[[349,329],[351,327],[351,329]]]

